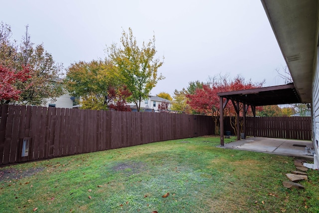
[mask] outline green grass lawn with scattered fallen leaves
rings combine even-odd
[[[294,158],[218,144],[198,137],[3,167],[0,212],[319,212],[318,171],[291,191],[282,181]]]

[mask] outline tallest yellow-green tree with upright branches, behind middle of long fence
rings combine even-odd
[[[107,53],[117,66],[116,77],[132,93],[128,102],[135,103],[137,111],[140,111],[141,101],[148,97],[158,80],[164,78],[161,74],[158,76],[158,69],[163,62],[155,58],[155,35],[149,42],[143,42],[140,48],[129,28],[128,33],[123,30],[121,44],[122,47],[118,47],[113,43],[107,48]]]

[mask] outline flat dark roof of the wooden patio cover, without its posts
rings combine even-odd
[[[300,103],[300,97],[293,83],[261,87],[217,94],[220,97],[253,106]]]

